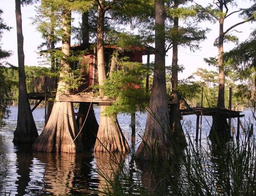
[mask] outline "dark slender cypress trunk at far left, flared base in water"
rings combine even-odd
[[[21,20],[21,1],[15,0],[17,24],[18,64],[19,64],[19,103],[17,127],[14,131],[14,143],[33,143],[38,137],[36,124],[28,102],[26,75],[24,67],[23,33]]]

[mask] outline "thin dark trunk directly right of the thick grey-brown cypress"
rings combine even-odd
[[[174,1],[174,6],[178,8],[177,0]],[[173,29],[178,33],[179,30],[179,18],[174,18]],[[178,42],[177,40],[173,40],[173,59],[171,66],[171,84],[172,84],[172,92],[171,96],[175,104],[171,105],[170,112],[170,124],[171,130],[173,131],[173,135],[175,138],[175,142],[178,145],[179,143],[182,145],[186,144],[185,135],[183,133],[183,128],[180,122],[180,108],[179,108],[179,98],[178,98]]]

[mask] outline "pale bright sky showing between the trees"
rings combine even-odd
[[[207,5],[209,2],[213,0],[195,0],[197,3],[201,5]],[[239,9],[240,7],[250,7],[252,3],[246,0],[237,0],[237,7],[232,10]],[[4,31],[1,44],[2,49],[12,51],[12,56],[6,59],[14,66],[18,65],[17,58],[17,31],[16,31],[16,19],[15,19],[15,1],[14,0],[0,0],[0,9],[2,9],[2,19],[4,22],[11,26],[12,29],[8,31]],[[36,30],[36,26],[32,25],[33,16],[36,15],[35,5],[28,5],[25,7],[21,7],[22,13],[22,25],[23,25],[23,35],[24,35],[24,54],[25,54],[25,65],[40,65],[40,56],[38,54],[37,47],[43,42],[40,33]],[[78,21],[81,20],[81,16],[76,14],[76,19],[74,20],[74,25],[77,26]],[[233,24],[242,21],[242,18],[239,18],[238,15],[234,14],[234,17],[230,16],[225,20],[224,30],[232,26]],[[179,73],[179,79],[184,79],[192,75],[192,73],[197,71],[197,68],[206,68],[208,70],[216,70],[216,68],[209,67],[204,62],[204,58],[214,56],[216,57],[218,54],[217,47],[213,47],[213,42],[218,37],[218,23],[209,23],[204,22],[199,25],[203,28],[210,28],[211,31],[207,34],[207,39],[202,41],[200,44],[201,49],[191,52],[190,49],[179,47],[178,48],[178,64],[183,65],[185,70],[182,73]],[[256,23],[244,23],[236,28],[232,33],[239,37],[239,42],[243,42],[246,40],[252,29],[256,27]],[[74,41],[73,41],[74,43]],[[224,51],[228,51],[234,48],[236,45],[233,43],[225,43]],[[147,57],[143,57],[143,62],[147,61]],[[150,61],[154,61],[154,55],[150,56]],[[171,65],[172,61],[172,51],[168,51],[166,54],[166,66]],[[42,65],[41,65],[42,66]]]

